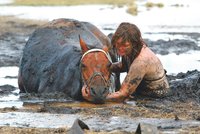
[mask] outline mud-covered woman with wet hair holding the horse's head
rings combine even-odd
[[[138,27],[121,23],[111,41],[121,62],[113,63],[111,71],[127,72],[119,91],[108,94],[107,101],[122,102],[134,92],[151,97],[164,97],[170,89],[165,70],[158,57],[147,47]]]

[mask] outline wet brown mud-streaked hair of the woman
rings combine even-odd
[[[120,38],[122,39],[122,43],[125,43],[126,41],[131,43],[134,50],[134,58],[137,57],[144,44],[139,28],[136,25],[128,22],[121,23],[111,40],[114,49],[116,49],[115,44]]]

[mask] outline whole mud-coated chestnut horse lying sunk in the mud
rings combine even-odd
[[[61,92],[75,100],[104,103],[115,85],[109,67],[116,58],[110,48],[110,39],[89,22],[48,22],[32,33],[23,49],[20,93]],[[119,88],[119,78],[115,80]]]

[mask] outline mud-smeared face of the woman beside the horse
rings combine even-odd
[[[131,55],[131,52],[132,52],[132,49],[133,49],[133,46],[131,45],[130,42],[126,41],[126,42],[123,42],[122,41],[122,38],[119,38],[115,44],[115,47],[117,49],[117,53],[120,55],[120,56],[128,56],[128,55]]]

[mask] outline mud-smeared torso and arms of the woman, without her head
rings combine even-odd
[[[127,72],[127,75],[120,90],[107,96],[108,101],[124,101],[137,92],[151,97],[164,97],[170,91],[162,63],[148,47],[143,47],[134,60],[123,56],[122,61],[113,64],[111,70]]]

